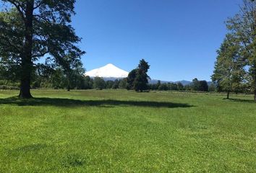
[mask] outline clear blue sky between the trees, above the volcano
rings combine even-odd
[[[77,0],[72,25],[87,71],[113,63],[126,71],[145,58],[152,79],[210,81],[224,21],[242,0]]]

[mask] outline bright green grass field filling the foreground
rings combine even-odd
[[[252,96],[0,91],[0,172],[256,172]]]

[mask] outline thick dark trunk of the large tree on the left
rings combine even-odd
[[[22,55],[22,71],[20,84],[20,98],[31,98],[30,94],[30,77],[33,68],[32,47],[33,47],[33,10],[34,1],[26,2],[25,9],[25,43]]]

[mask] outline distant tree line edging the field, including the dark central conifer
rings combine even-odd
[[[76,63],[74,69],[54,68],[51,71],[38,71],[34,68],[31,75],[31,88],[32,89],[134,89],[137,92],[147,92],[149,90],[179,90],[179,91],[197,91],[197,92],[215,92],[216,86],[207,81],[200,81],[197,78],[192,80],[191,84],[183,85],[181,82],[176,83],[161,83],[158,81],[156,84],[149,84],[150,76],[147,72],[150,68],[148,62],[144,59],[140,60],[137,68],[129,72],[127,78],[116,79],[114,81],[101,77],[90,78],[84,76],[85,70],[82,68],[81,63]],[[20,82],[18,79],[8,78],[7,71],[0,70],[0,89],[19,89]],[[8,80],[7,80],[8,79]]]

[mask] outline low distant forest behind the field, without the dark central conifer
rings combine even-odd
[[[90,78],[90,76],[75,76],[71,82],[67,81],[67,78],[59,73],[51,74],[50,76],[36,76],[32,82],[32,89],[129,89],[127,84],[127,78],[116,79],[114,81],[104,80],[100,77]],[[244,86],[246,87],[246,86]],[[0,89],[20,89],[20,83],[14,81],[0,80]],[[224,92],[221,88],[218,89],[215,84],[209,84],[207,81],[200,81],[193,79],[191,84],[184,85],[181,82],[178,83],[161,83],[158,81],[156,84],[148,84],[147,90],[158,91],[194,91],[194,92]],[[249,93],[246,89],[240,89],[235,91],[236,93]]]

